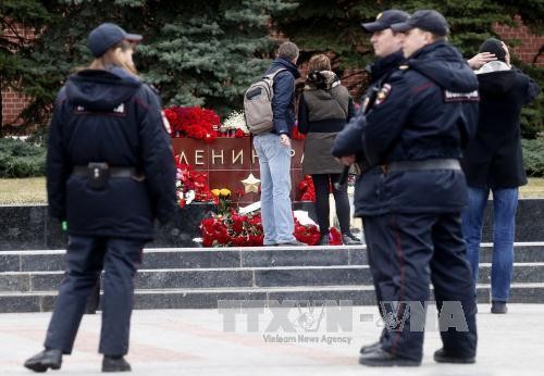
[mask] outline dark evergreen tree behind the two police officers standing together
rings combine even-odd
[[[504,0],[296,0],[296,12],[279,18],[277,27],[295,40],[302,49],[300,61],[314,53],[329,52],[341,78],[346,78],[347,70],[363,72],[366,64],[374,57],[369,35],[361,29],[361,22],[372,22],[378,13],[386,9],[401,9],[412,13],[420,9],[434,9],[444,14],[450,26],[449,41],[469,59],[478,52],[480,45],[490,37],[499,37],[493,30],[495,23],[515,26],[515,15],[521,15],[523,23],[533,33],[544,29],[544,1]],[[519,40],[506,40],[510,46]],[[529,67],[512,55],[512,61],[532,74],[541,85],[543,70]],[[366,83],[355,87],[360,96]],[[526,136],[534,137],[544,130],[544,96],[523,111]]]

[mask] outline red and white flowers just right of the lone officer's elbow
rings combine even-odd
[[[181,208],[193,201],[214,201],[208,187],[208,174],[193,170],[193,166],[181,162],[181,156],[175,158],[176,164],[176,195]]]

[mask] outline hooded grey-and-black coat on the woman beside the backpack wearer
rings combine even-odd
[[[302,173],[339,174],[331,149],[338,131],[355,115],[349,91],[331,71],[311,72],[298,106],[298,130],[307,135]]]

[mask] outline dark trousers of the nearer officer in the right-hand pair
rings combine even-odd
[[[474,356],[477,306],[460,213],[366,216],[363,228],[384,317],[382,348],[422,359],[422,325],[432,283],[444,349],[448,354]]]

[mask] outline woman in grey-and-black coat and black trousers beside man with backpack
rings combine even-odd
[[[355,106],[345,87],[331,72],[331,61],[324,54],[310,59],[309,74],[298,109],[298,128],[306,134],[302,172],[311,175],[316,187],[316,212],[321,233],[319,245],[329,245],[329,193],[333,187],[336,215],[338,217],[342,241],[345,245],[359,245],[349,230],[349,201],[347,186],[334,188],[343,171],[343,165],[332,155],[336,135],[355,115]]]

